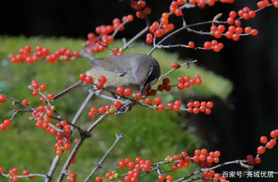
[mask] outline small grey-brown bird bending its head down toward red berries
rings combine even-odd
[[[97,58],[91,60],[90,63],[92,68],[85,74],[93,78],[106,76],[107,81],[104,88],[111,92],[115,92],[118,87],[124,87],[143,94],[149,86],[158,81],[161,75],[161,67],[157,60],[142,53]],[[70,91],[83,86],[83,82],[78,81],[66,90],[56,94],[51,100],[60,99]]]

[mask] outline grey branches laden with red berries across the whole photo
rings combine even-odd
[[[170,12],[162,13],[158,21],[150,22],[148,15],[152,13],[151,8],[146,6],[145,1],[131,1],[131,8],[136,10],[136,17],[138,19],[144,19],[146,26],[142,28],[139,33],[133,36],[129,42],[124,40],[123,47],[114,47],[113,49],[109,48],[109,44],[115,40],[115,37],[118,32],[124,31],[126,24],[133,22],[133,15],[126,15],[122,19],[115,18],[111,25],[101,25],[98,26],[95,30],[95,33],[88,34],[88,40],[83,42],[83,48],[81,51],[72,51],[71,49],[66,49],[61,47],[60,49],[54,51],[53,53],[49,52],[49,48],[42,47],[38,45],[35,47],[35,51],[32,52],[32,48],[29,45],[26,45],[19,50],[19,54],[14,55],[10,54],[9,58],[12,63],[37,63],[38,61],[47,61],[48,63],[57,63],[58,61],[68,62],[70,60],[75,60],[77,58],[90,58],[92,59],[96,53],[105,51],[106,49],[112,50],[111,56],[121,56],[124,54],[126,49],[129,49],[132,44],[136,44],[138,40],[143,35],[146,36],[146,43],[152,44],[152,48],[149,50],[148,55],[151,55],[156,49],[169,49],[172,47],[185,47],[188,49],[204,49],[204,50],[213,50],[219,52],[224,48],[224,44],[218,42],[217,40],[206,41],[202,46],[196,46],[193,41],[189,41],[188,44],[163,44],[165,40],[169,40],[174,35],[178,33],[187,31],[188,33],[196,33],[198,35],[210,35],[216,39],[226,37],[227,39],[232,39],[238,41],[240,36],[245,35],[257,35],[258,31],[255,28],[250,26],[242,27],[241,21],[254,18],[256,13],[264,8],[275,6],[278,8],[278,1],[272,0],[271,3],[268,0],[259,1],[257,3],[258,9],[251,10],[248,7],[244,7],[239,10],[238,13],[231,11],[229,17],[226,21],[219,21],[222,17],[222,13],[215,15],[213,20],[208,20],[206,22],[198,22],[195,24],[187,24],[186,16],[183,15],[183,11],[188,8],[204,8],[205,6],[214,6],[218,2],[217,0],[205,1],[205,0],[190,0],[183,1],[177,0],[172,1],[169,6]],[[233,3],[233,0],[220,0],[221,3]],[[176,28],[174,24],[170,23],[169,17],[178,17],[181,18],[182,26],[181,28]],[[211,25],[209,30],[197,31],[193,28],[202,25]],[[227,27],[228,26],[228,27]],[[226,31],[227,29],[227,31]],[[243,33],[244,31],[244,33]],[[136,92],[133,93],[131,88],[118,87],[117,90],[113,92],[106,90],[106,76],[99,76],[98,78],[93,78],[90,75],[85,73],[80,74],[79,81],[83,85],[90,85],[92,90],[89,91],[88,97],[85,98],[83,104],[79,110],[76,111],[76,115],[72,122],[69,122],[69,119],[62,117],[58,114],[58,110],[54,106],[52,99],[55,97],[54,94],[44,94],[47,90],[47,85],[39,85],[38,81],[32,81],[31,85],[28,85],[28,89],[32,91],[33,97],[40,95],[40,106],[33,106],[31,102],[27,99],[19,101],[13,97],[8,96],[0,92],[0,102],[4,103],[7,99],[12,101],[13,105],[20,105],[25,110],[14,110],[13,115],[10,119],[5,119],[0,124],[0,130],[6,131],[12,122],[16,122],[14,119],[19,114],[31,113],[29,119],[35,122],[37,128],[42,128],[51,135],[56,136],[56,143],[54,144],[56,148],[56,156],[54,157],[53,163],[49,167],[48,172],[45,174],[31,174],[28,170],[24,170],[22,175],[18,175],[19,170],[17,168],[10,169],[8,173],[4,172],[3,167],[0,167],[0,175],[8,178],[10,181],[18,181],[18,179],[23,177],[28,177],[33,179],[35,176],[40,176],[44,178],[45,181],[51,181],[53,179],[54,172],[57,170],[58,163],[60,162],[60,157],[64,154],[65,151],[70,151],[70,154],[67,156],[65,163],[63,164],[62,169],[58,174],[57,181],[63,181],[63,178],[67,176],[67,181],[76,181],[76,174],[70,166],[75,163],[76,154],[83,145],[84,140],[90,137],[92,131],[101,124],[108,116],[111,115],[121,115],[127,112],[130,112],[133,106],[142,106],[145,108],[150,108],[158,111],[163,110],[174,110],[174,111],[187,111],[188,113],[205,113],[206,115],[211,114],[211,109],[213,108],[212,101],[190,101],[187,104],[183,104],[181,101],[177,100],[174,103],[163,102],[164,99],[161,97],[155,97],[158,92],[170,92],[172,89],[177,88],[178,90],[184,90],[192,86],[197,86],[202,84],[202,78],[198,74],[194,77],[184,75],[177,78],[177,83],[170,84],[170,79],[166,78],[168,74],[171,74],[180,67],[186,66],[189,69],[189,65],[195,63],[196,60],[189,61],[188,63],[183,63],[179,65],[178,63],[172,63],[172,69],[166,72],[158,78],[158,81],[162,80],[162,83],[157,85],[157,88],[149,87],[145,90],[144,93]],[[94,82],[95,81],[95,82]],[[108,94],[103,94],[95,92],[96,90],[107,91],[108,94],[112,94],[113,97],[110,97]],[[88,117],[92,121],[89,126],[81,126],[80,117],[84,112],[85,107],[88,106],[88,103],[92,97],[100,97],[111,101],[110,105],[92,107],[88,112]],[[184,106],[183,106],[184,105]],[[186,105],[186,107],[185,107]],[[79,122],[80,121],[80,122]],[[79,122],[79,124],[77,124]],[[85,128],[85,129],[84,129]],[[78,131],[79,136],[76,138],[74,132]],[[261,137],[260,141],[265,146],[259,146],[257,149],[257,154],[255,158],[251,155],[248,155],[246,159],[243,160],[234,160],[231,162],[226,162],[219,164],[220,151],[211,151],[208,152],[207,149],[196,149],[193,156],[188,156],[186,151],[181,152],[181,154],[169,155],[165,158],[165,161],[152,163],[151,160],[142,160],[138,157],[134,161],[131,158],[125,158],[118,162],[118,168],[128,169],[128,172],[118,173],[116,170],[113,172],[108,172],[105,174],[104,178],[97,176],[95,178],[96,182],[104,181],[113,181],[119,179],[118,181],[138,181],[139,178],[149,174],[150,172],[157,172],[158,181],[166,182],[178,182],[178,181],[196,181],[202,179],[203,181],[227,181],[227,179],[222,176],[222,174],[215,172],[215,169],[223,167],[225,165],[237,164],[241,167],[247,168],[247,170],[253,169],[254,165],[261,163],[261,154],[265,152],[265,149],[272,149],[278,138],[278,130],[271,131],[271,139],[268,140],[265,136]],[[114,149],[117,142],[123,138],[123,135],[117,135],[115,142],[106,154],[101,158],[96,167],[92,169],[92,172],[87,176],[85,181],[88,181],[92,178],[93,174],[97,169],[101,168],[101,163],[107,158],[108,154]],[[72,148],[72,144],[74,147]],[[199,165],[199,169],[195,172],[192,172],[186,176],[172,176],[172,174],[165,175],[166,173],[176,172],[182,168],[187,168],[190,164],[195,163]],[[212,166],[213,163],[215,166]],[[161,169],[162,165],[171,166],[167,171]],[[274,172],[277,174],[277,172]]]

